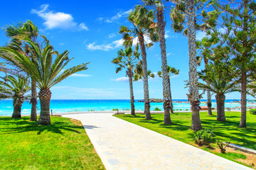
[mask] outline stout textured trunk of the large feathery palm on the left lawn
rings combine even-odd
[[[41,89],[39,91],[39,100],[41,105],[40,117],[38,119],[39,125],[50,124],[50,89]]]

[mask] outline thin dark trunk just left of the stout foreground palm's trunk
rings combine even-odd
[[[31,121],[37,120],[36,104],[37,104],[36,81],[31,79]]]

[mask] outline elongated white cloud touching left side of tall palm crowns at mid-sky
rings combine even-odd
[[[114,50],[118,47],[122,47],[124,40],[115,40],[109,44],[102,44],[102,45],[96,45],[96,42],[92,42],[89,45],[87,45],[88,50],[103,50],[103,51],[109,51]]]

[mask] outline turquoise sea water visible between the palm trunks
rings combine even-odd
[[[144,110],[144,103],[135,101],[136,110]],[[174,100],[186,102],[187,100]],[[216,107],[215,100],[212,101],[212,107]],[[80,111],[112,111],[114,108],[118,108],[119,111],[129,110],[129,100],[51,100],[50,109],[53,113],[63,112],[80,112]],[[160,108],[164,110],[163,103],[150,103],[151,110],[154,108]],[[201,100],[201,106],[206,106],[206,100]],[[234,102],[234,100],[226,100],[225,107],[235,108],[240,106],[240,103]],[[248,104],[250,106],[250,104]],[[174,103],[174,109],[188,111],[190,110],[189,103]],[[13,106],[11,100],[0,101],[0,115],[11,115],[13,113]],[[24,102],[21,107],[22,115],[29,115],[31,113],[31,105],[28,102]],[[40,102],[38,101],[38,113],[40,113]]]

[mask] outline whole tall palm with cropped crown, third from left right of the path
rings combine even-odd
[[[167,70],[167,59],[166,59],[166,40],[165,40],[165,26],[166,22],[164,21],[164,10],[166,8],[165,0],[143,0],[145,6],[149,8],[154,8],[156,11],[156,21],[159,32],[159,42],[161,48],[161,68],[162,68],[162,77],[163,77],[163,101],[164,101],[164,124],[171,123],[170,115],[170,84]]]

